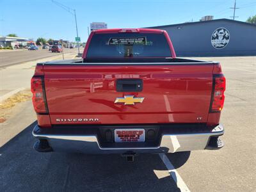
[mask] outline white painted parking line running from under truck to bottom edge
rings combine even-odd
[[[175,170],[173,164],[169,161],[168,157],[165,154],[159,154],[159,156],[165,164],[166,168],[168,169],[168,172],[172,176],[172,179],[176,182],[177,187],[180,189],[180,191],[190,191],[184,180],[180,177],[177,170]]]

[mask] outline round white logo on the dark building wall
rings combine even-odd
[[[228,29],[218,28],[212,33],[212,46],[216,49],[223,49],[227,46],[230,39]]]

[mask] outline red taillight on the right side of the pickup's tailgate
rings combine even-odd
[[[216,74],[212,82],[212,98],[210,113],[220,112],[225,100],[226,79],[223,74]]]

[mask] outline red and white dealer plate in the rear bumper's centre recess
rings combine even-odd
[[[115,142],[144,142],[145,129],[115,129]]]

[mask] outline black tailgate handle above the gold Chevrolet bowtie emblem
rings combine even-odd
[[[143,89],[142,79],[117,79],[117,92],[141,92]]]

